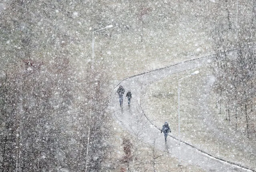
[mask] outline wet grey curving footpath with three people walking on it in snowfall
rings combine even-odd
[[[126,78],[121,82],[125,90],[131,90],[133,98],[131,100],[131,108],[127,106],[127,100],[125,100],[122,107],[119,106],[119,98],[116,93],[117,87],[111,94],[111,100],[109,102],[109,108],[119,124],[132,134],[139,136],[144,142],[152,144],[154,138],[156,138],[157,148],[169,152],[171,156],[175,156],[181,160],[181,164],[184,162],[200,166],[206,171],[216,172],[232,172],[232,171],[254,171],[246,169],[246,167],[240,167],[232,162],[226,162],[225,160],[219,160],[207,153],[181,142],[174,137],[167,137],[167,144],[164,143],[163,134],[159,132],[153,121],[150,122],[143,114],[139,104],[143,97],[143,91],[145,86],[151,82],[159,80],[170,74],[181,72],[184,70],[190,70],[199,66],[205,65],[210,61],[211,56],[190,60],[187,62],[181,62],[169,66],[167,68],[154,70],[145,74],[140,74],[130,78]]]

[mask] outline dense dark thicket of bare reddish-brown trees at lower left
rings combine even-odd
[[[110,116],[103,73],[74,75],[68,58],[21,64],[0,79],[1,171],[104,169]]]

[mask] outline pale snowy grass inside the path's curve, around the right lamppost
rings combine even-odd
[[[185,78],[180,85],[181,140],[214,156],[255,169],[255,138],[246,138],[244,124],[235,132],[232,122],[225,120],[226,113],[218,113],[216,94],[212,91],[214,77],[208,67],[173,74],[149,85],[143,107],[145,114],[159,127],[168,121],[172,134],[178,136],[178,80],[195,70],[200,73]]]

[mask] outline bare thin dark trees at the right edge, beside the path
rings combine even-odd
[[[249,137],[256,133],[256,44],[254,27],[247,26],[231,29],[223,23],[216,25],[212,69],[216,79],[216,106],[235,130],[245,128]]]

